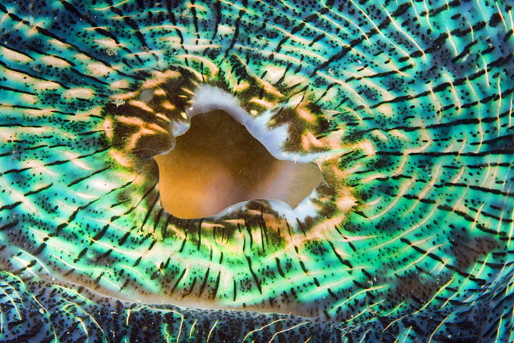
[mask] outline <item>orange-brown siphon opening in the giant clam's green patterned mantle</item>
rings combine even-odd
[[[257,198],[295,208],[324,182],[318,166],[274,158],[224,111],[196,115],[175,148],[155,156],[163,207],[181,218],[214,215]]]

